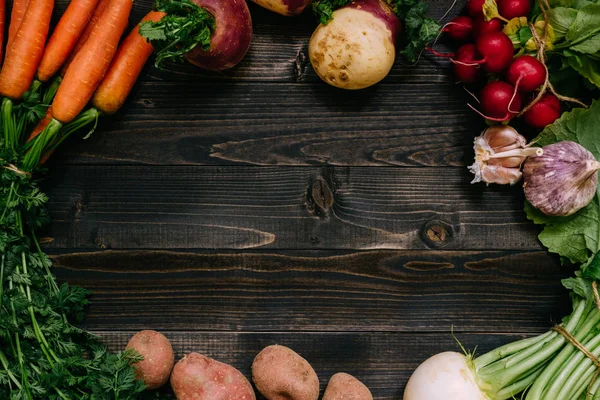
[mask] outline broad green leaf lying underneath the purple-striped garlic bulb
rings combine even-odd
[[[555,123],[549,125],[534,139],[535,143],[546,146],[563,140],[571,140],[588,149],[600,159],[600,140],[597,127],[600,126],[600,101],[590,108],[576,108],[564,113]],[[592,202],[568,217],[548,216],[525,202],[527,218],[536,224],[545,225],[539,235],[544,246],[572,263],[584,263],[600,250],[600,199]]]

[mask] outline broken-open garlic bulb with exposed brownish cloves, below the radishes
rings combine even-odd
[[[521,180],[521,165],[528,156],[541,155],[539,147],[528,147],[527,140],[508,125],[487,128],[475,138],[475,163],[469,167],[475,178],[471,183],[501,185]]]

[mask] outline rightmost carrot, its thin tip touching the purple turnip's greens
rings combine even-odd
[[[154,51],[152,45],[140,35],[140,25],[146,21],[160,21],[165,15],[164,12],[150,11],[119,47],[106,76],[92,98],[94,107],[104,114],[114,114],[125,103],[146,61]]]

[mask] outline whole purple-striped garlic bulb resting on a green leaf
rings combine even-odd
[[[567,216],[587,206],[596,194],[600,163],[575,142],[544,147],[523,167],[525,197],[547,215]]]

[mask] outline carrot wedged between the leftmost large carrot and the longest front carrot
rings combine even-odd
[[[98,0],[71,0],[58,21],[38,67],[37,77],[46,82],[60,69],[83,33]]]

